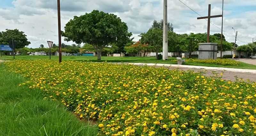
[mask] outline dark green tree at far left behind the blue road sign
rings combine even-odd
[[[12,40],[16,44],[16,49],[23,48],[30,44],[27,39],[27,35],[25,35],[23,31],[19,31],[18,29],[6,29],[6,31],[0,33],[0,44],[9,44]]]

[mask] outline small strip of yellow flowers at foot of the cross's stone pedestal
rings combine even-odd
[[[209,63],[209,64],[220,64],[220,65],[239,65],[240,62],[230,59],[217,59],[217,60],[198,60],[198,59],[188,59],[187,62],[198,62],[198,63]]]

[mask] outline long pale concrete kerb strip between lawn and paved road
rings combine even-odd
[[[121,64],[121,63],[119,63],[119,64]],[[176,64],[155,64],[155,63],[124,63],[124,64],[160,66],[160,67],[177,67],[177,68],[197,68],[197,69],[220,70],[220,71],[231,71],[231,72],[256,74],[256,70],[253,70],[253,69],[219,68],[219,67],[204,67],[204,66],[176,65]]]

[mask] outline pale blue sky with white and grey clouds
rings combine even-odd
[[[184,4],[182,4],[183,2]],[[163,19],[163,0],[60,0],[61,29],[74,16],[92,10],[114,13],[127,23],[134,41],[139,34],[147,32],[154,20]],[[185,4],[193,9],[189,9]],[[222,12],[222,0],[168,0],[168,21],[174,32],[206,33],[207,20],[197,17],[208,15],[208,4],[212,4],[211,15]],[[198,14],[200,15],[198,15]],[[28,47],[47,46],[46,41],[58,43],[57,0],[1,0],[0,31],[19,29],[25,32],[31,44]],[[221,33],[221,18],[211,19],[211,34]],[[256,0],[224,0],[223,34],[228,42],[244,45],[256,41]],[[73,44],[64,41],[62,43]]]

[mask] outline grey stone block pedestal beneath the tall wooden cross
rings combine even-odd
[[[198,59],[217,59],[218,46],[217,43],[199,43],[199,55]]]

